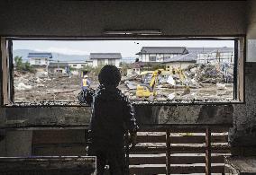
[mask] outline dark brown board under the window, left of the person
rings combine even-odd
[[[36,130],[32,132],[32,144],[86,143],[85,130]]]

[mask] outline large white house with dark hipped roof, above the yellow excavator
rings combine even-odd
[[[142,62],[163,62],[165,59],[188,54],[186,47],[142,47],[136,55]]]

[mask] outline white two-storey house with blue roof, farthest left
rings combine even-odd
[[[42,53],[35,52],[35,53],[28,54],[30,65],[36,68],[37,71],[41,71],[41,72],[48,71],[50,58],[52,58],[52,54],[47,52],[42,52]]]

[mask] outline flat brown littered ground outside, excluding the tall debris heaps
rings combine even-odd
[[[96,89],[98,83],[96,76],[91,78],[91,87]],[[135,82],[139,83],[139,82]],[[135,96],[136,90],[129,90],[125,83],[119,88],[129,96],[132,101],[141,101]],[[78,92],[81,91],[81,77],[79,75],[49,76],[32,73],[14,73],[14,101],[78,101]],[[169,87],[162,83],[157,86],[158,95],[156,101],[169,100],[169,94],[174,95],[174,100],[233,100],[233,83],[225,83],[223,89],[219,89],[214,83],[201,83],[200,87]]]

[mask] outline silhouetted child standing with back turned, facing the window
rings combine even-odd
[[[134,111],[127,97],[117,88],[121,74],[116,66],[104,66],[98,75],[99,87],[92,94],[87,92],[87,102],[92,102],[90,124],[91,143],[88,155],[96,156],[97,174],[105,171],[109,163],[110,173],[124,175],[124,134],[129,131],[134,144],[138,126]],[[93,95],[93,98],[91,96]]]

